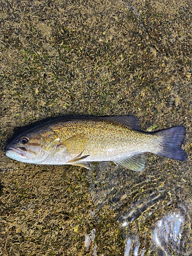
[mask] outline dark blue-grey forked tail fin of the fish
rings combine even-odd
[[[186,160],[187,154],[181,148],[185,133],[185,126],[175,126],[157,132],[156,134],[162,138],[162,150],[157,155],[181,161]]]

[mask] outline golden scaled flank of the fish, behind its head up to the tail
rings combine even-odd
[[[98,155],[102,155],[103,161],[124,157],[135,151],[146,150],[148,145],[148,151],[155,150],[154,135],[130,130],[129,127],[110,120],[72,120],[54,124],[52,129],[62,140],[76,134],[86,134],[87,146],[83,153],[90,154],[92,161],[97,161]]]

